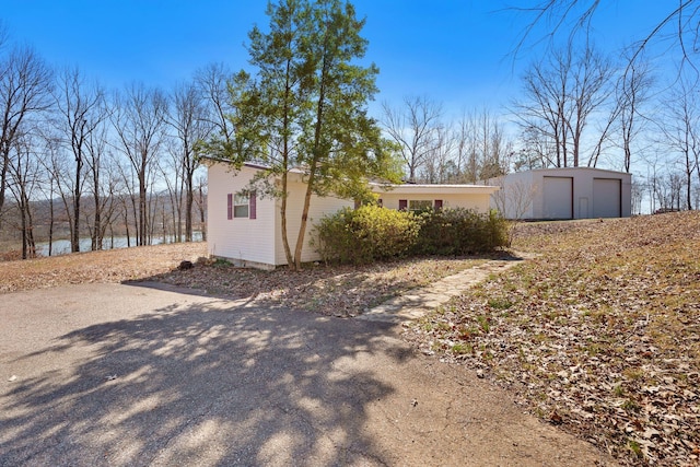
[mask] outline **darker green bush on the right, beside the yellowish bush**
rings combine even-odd
[[[464,256],[508,246],[508,221],[491,210],[428,210],[420,214],[421,230],[413,255]]]

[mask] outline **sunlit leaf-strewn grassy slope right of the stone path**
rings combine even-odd
[[[539,257],[409,326],[629,465],[700,464],[700,212],[523,224]]]

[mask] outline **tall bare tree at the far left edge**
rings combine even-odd
[[[49,108],[51,84],[50,69],[28,47],[13,47],[0,59],[0,211],[20,128],[33,114]]]

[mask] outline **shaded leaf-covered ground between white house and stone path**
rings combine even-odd
[[[194,269],[171,271],[155,279],[258,304],[355,316],[401,292],[483,261],[483,258],[418,258],[364,266],[318,264],[308,265],[302,272],[287,268],[260,271],[236,268],[226,261],[200,261]]]

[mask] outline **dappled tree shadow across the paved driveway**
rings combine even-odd
[[[2,358],[27,376],[0,392],[0,465],[396,460],[364,429],[369,408],[395,392],[382,365],[408,355],[387,350],[386,327],[206,297],[160,302],[122,319],[92,310],[93,324]]]

